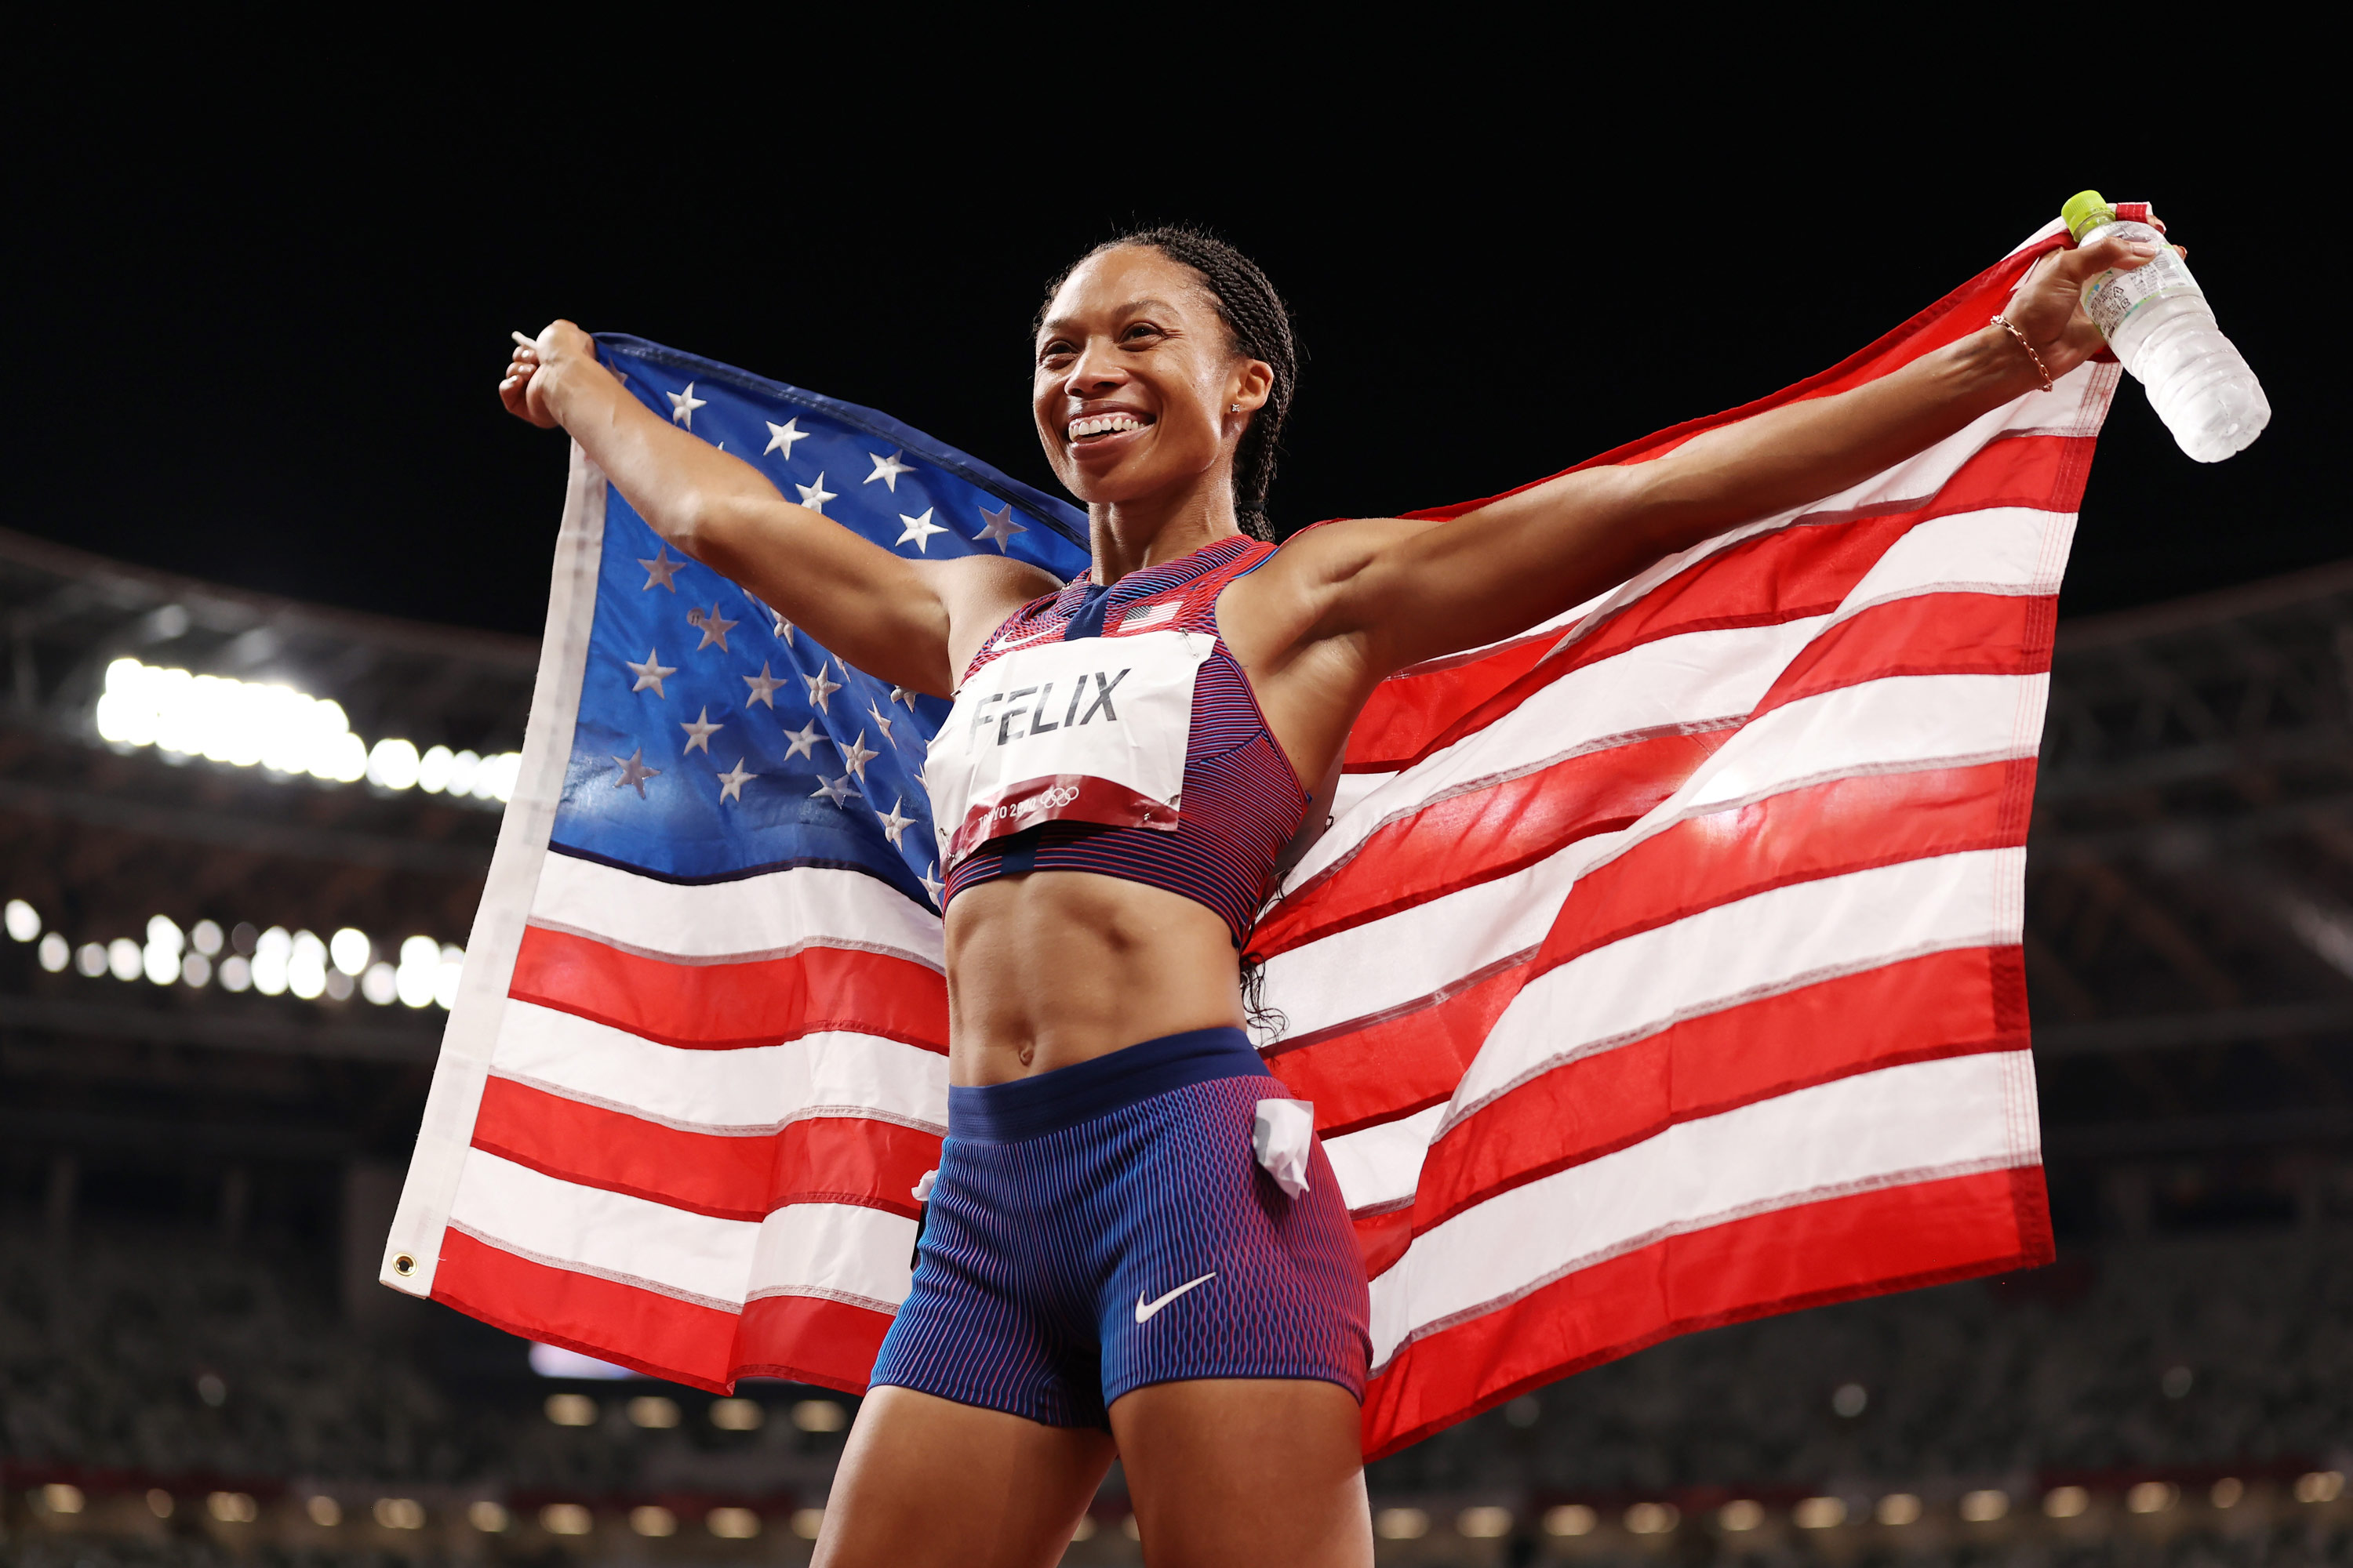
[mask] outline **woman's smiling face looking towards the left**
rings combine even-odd
[[[1231,510],[1233,447],[1271,386],[1264,362],[1235,353],[1193,268],[1122,244],[1087,256],[1047,301],[1031,404],[1054,475],[1080,501],[1207,489]]]

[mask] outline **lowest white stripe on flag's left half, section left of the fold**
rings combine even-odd
[[[579,1187],[473,1150],[449,1222],[544,1262],[741,1309],[760,1225]]]

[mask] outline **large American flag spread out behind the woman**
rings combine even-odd
[[[1593,461],[1882,376],[2059,244]],[[885,548],[1087,569],[1073,508],[880,414],[600,350]],[[1261,1048],[1372,1274],[1367,1455],[1675,1333],[2052,1255],[2026,823],[2118,374],[1374,693],[1252,940]],[[946,1131],[944,717],[680,562],[574,451],[388,1286],[696,1387],[866,1387]]]

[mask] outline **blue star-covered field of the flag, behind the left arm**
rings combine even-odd
[[[628,390],[896,555],[1087,569],[1087,517],[887,414],[659,343],[598,336]],[[948,703],[845,665],[605,496],[579,722],[551,849],[666,882],[798,865],[939,907],[922,759]]]

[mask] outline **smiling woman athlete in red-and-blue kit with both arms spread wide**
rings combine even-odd
[[[1033,343],[1038,440],[1089,517],[1094,569],[1073,585],[988,555],[901,559],[791,505],[638,404],[572,322],[518,348],[506,407],[569,430],[675,548],[871,675],[958,698],[929,764],[958,839],[948,1140],[816,1561],[1054,1563],[1118,1455],[1153,1563],[1369,1563],[1365,1274],[1320,1150],[1297,1197],[1254,1159],[1254,1107],[1282,1091],[1238,992],[1351,722],[1395,670],[2064,376],[2101,343],[2080,284],[2146,256],[2047,256],[2009,327],[1657,461],[1278,550],[1285,308],[1214,237],[1127,235],[1054,282]],[[1155,736],[1158,783],[1132,771]],[[991,792],[1019,783],[1021,748],[1061,748],[1049,771],[1080,788]]]

